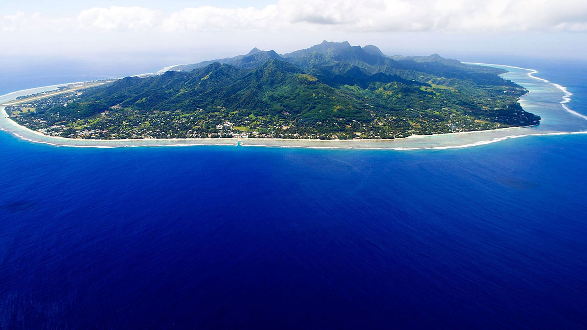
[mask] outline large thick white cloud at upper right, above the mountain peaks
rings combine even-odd
[[[555,31],[587,23],[586,1],[552,0],[282,0],[289,22],[353,31]],[[587,31],[587,30],[583,30]]]

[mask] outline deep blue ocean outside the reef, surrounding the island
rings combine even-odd
[[[587,113],[587,63],[494,62]],[[89,77],[67,68],[2,69],[0,94]],[[0,132],[0,329],[585,329],[586,151],[585,134],[390,151]]]

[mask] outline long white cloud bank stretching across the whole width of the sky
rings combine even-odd
[[[0,16],[15,32],[587,32],[587,1],[279,0],[265,8],[201,6],[176,12],[138,6],[89,8],[75,16]]]

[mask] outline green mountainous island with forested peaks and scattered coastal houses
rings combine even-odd
[[[324,41],[66,86],[5,110],[72,139],[396,139],[539,124],[505,72]]]

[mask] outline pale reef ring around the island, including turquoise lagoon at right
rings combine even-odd
[[[52,85],[33,89],[21,90],[0,96],[0,129],[10,132],[21,139],[36,143],[51,144],[54,146],[72,147],[139,147],[139,146],[258,146],[258,147],[303,147],[319,149],[451,149],[480,146],[507,139],[525,136],[547,136],[561,134],[587,133],[587,116],[569,109],[566,105],[571,100],[572,93],[566,87],[549,82],[534,76],[537,70],[518,68],[507,65],[477,65],[495,66],[510,70],[504,73],[504,78],[510,79],[518,85],[524,86],[530,93],[522,96],[520,103],[528,112],[542,117],[538,126],[508,127],[504,129],[483,130],[473,132],[458,132],[435,134],[427,136],[410,136],[392,140],[294,140],[294,139],[124,139],[124,140],[85,140],[68,139],[65,137],[46,136],[40,132],[23,127],[10,119],[5,112],[5,106],[18,102],[9,102],[17,96],[31,95],[32,93],[56,90],[60,86]],[[173,66],[169,67],[173,68]],[[166,68],[167,69],[167,68]],[[162,72],[164,70],[161,70]],[[150,75],[153,73],[147,73]],[[141,76],[141,75],[137,75]],[[79,84],[79,83],[78,83]],[[87,86],[89,87],[89,86]],[[80,87],[77,89],[81,89]],[[77,90],[75,89],[75,90]],[[71,89],[70,89],[71,90]],[[61,92],[59,92],[61,93]],[[562,96],[561,96],[562,93]],[[39,96],[48,97],[48,96]],[[36,99],[36,98],[35,98]],[[545,101],[546,99],[546,101]],[[22,101],[19,101],[22,102]]]

